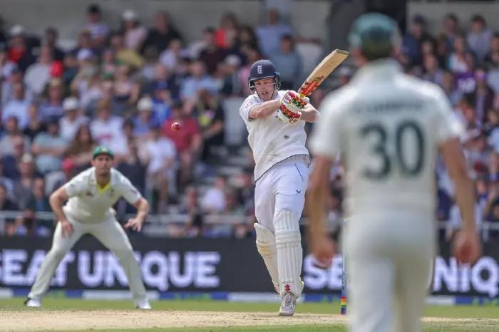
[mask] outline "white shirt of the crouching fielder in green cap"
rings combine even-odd
[[[109,185],[103,189],[96,181],[94,167],[84,170],[64,185],[70,197],[63,207],[66,217],[82,223],[103,222],[115,215],[112,207],[120,197],[130,204],[142,197],[124,175],[114,168],[110,172]]]

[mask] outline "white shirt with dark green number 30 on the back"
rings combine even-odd
[[[438,85],[405,75],[395,61],[375,61],[330,93],[320,112],[312,151],[331,160],[341,153],[347,213],[433,213],[438,145],[462,130]]]

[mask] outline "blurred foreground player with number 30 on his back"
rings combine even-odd
[[[314,170],[307,194],[311,247],[331,264],[324,202],[329,170],[341,153],[346,169],[344,242],[349,326],[354,332],[421,331],[430,262],[436,251],[435,167],[441,152],[456,185],[463,229],[458,261],[478,259],[473,182],[459,144],[460,128],[441,88],[402,73],[396,23],[366,14],[349,35],[359,67],[351,83],[321,105],[312,138]]]

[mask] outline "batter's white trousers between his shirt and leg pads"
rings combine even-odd
[[[257,221],[274,233],[274,217],[293,212],[298,222],[305,204],[309,179],[308,157],[290,157],[272,166],[256,183],[254,215]]]

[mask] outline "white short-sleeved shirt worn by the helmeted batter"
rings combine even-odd
[[[286,91],[278,91],[276,98],[281,98]],[[294,155],[309,155],[305,147],[307,133],[304,120],[297,123],[283,123],[277,118],[277,110],[267,118],[250,119],[249,110],[263,101],[256,93],[249,95],[242,103],[239,113],[248,130],[249,147],[253,151],[254,180],[258,180],[270,167]]]

